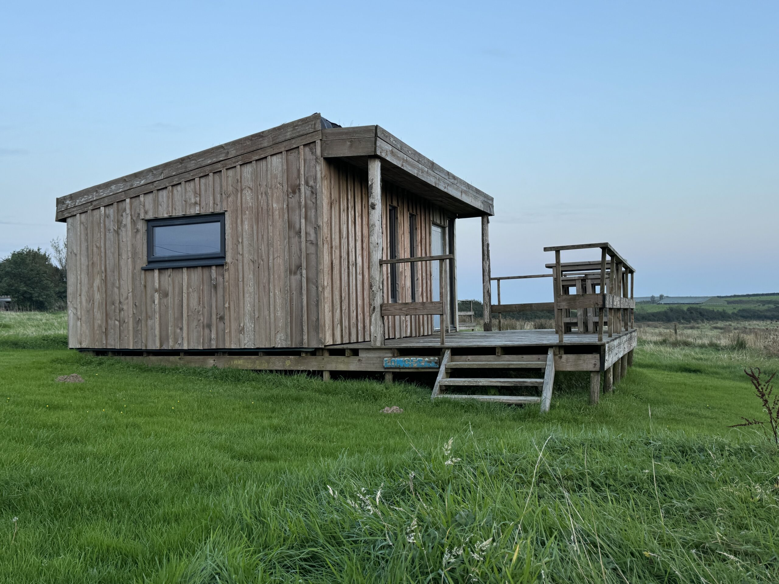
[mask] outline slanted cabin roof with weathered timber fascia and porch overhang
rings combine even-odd
[[[231,164],[268,156],[280,150],[322,140],[323,157],[337,157],[360,167],[368,157],[382,159],[382,177],[407,188],[460,217],[492,215],[492,197],[439,167],[377,125],[340,128],[321,114],[291,121],[171,160],[57,199],[56,220],[83,213],[177,182],[187,181]]]

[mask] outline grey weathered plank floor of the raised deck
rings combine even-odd
[[[412,336],[403,339],[385,339],[384,347],[389,348],[454,348],[454,347],[564,347],[566,345],[607,345],[623,336],[635,334],[634,329],[615,333],[614,336],[604,336],[597,339],[597,333],[580,334],[566,333],[563,342],[554,329],[540,330],[504,330],[504,331],[462,331],[447,332],[446,341],[441,345],[439,335]],[[370,341],[362,343],[341,343],[329,345],[331,349],[369,349]]]

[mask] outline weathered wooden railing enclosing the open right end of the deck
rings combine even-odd
[[[574,249],[601,249],[600,261],[566,262],[561,261],[561,252]],[[563,335],[574,327],[578,332],[596,332],[597,339],[603,340],[603,331],[608,325],[608,336],[633,328],[633,280],[636,270],[630,266],[608,243],[559,245],[544,248],[545,252],[555,252],[555,262],[547,264],[551,274],[532,276],[499,276],[490,278],[498,283],[498,304],[490,306],[491,312],[499,315],[499,329],[502,330],[502,313],[520,311],[553,310],[555,331],[562,343]],[[502,304],[500,283],[502,280],[521,280],[525,278],[552,278],[553,302],[532,304]],[[573,289],[573,294],[571,291]],[[629,294],[629,296],[628,296]],[[576,311],[576,316],[572,311]]]

